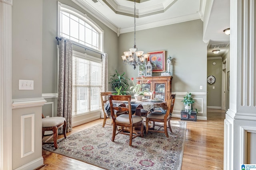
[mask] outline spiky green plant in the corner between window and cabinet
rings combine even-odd
[[[110,84],[112,89],[116,90],[116,95],[126,95],[128,93],[127,88],[129,87],[127,80],[129,80],[126,76],[124,76],[125,72],[123,74],[119,74],[116,70],[116,74],[110,75],[112,76],[110,78]]]

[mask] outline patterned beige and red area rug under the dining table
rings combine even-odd
[[[113,127],[99,124],[58,140],[58,149],[53,144],[43,145],[43,149],[108,170],[180,170],[186,122],[171,121],[171,126],[169,138],[149,132],[129,146],[128,135],[118,134],[112,142]]]

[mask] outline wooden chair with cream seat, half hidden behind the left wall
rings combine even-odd
[[[62,126],[63,126],[63,129],[62,129],[63,135],[64,135],[64,138],[66,139],[67,123],[66,123],[65,117],[44,117],[44,115],[42,114],[42,139],[44,137],[45,131],[53,132],[53,134],[42,144],[48,144],[49,142],[47,143],[47,141],[53,136],[54,147],[55,149],[58,149],[58,146],[57,146],[58,129]]]

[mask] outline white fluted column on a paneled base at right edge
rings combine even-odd
[[[254,0],[230,1],[230,108],[224,121],[224,169],[255,164],[256,60]]]

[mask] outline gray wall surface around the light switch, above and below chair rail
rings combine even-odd
[[[34,80],[34,90],[18,90],[19,80]],[[12,99],[40,97],[42,97],[42,0],[13,0]],[[25,127],[24,131],[21,131],[22,127]],[[34,133],[32,129],[35,130]],[[42,106],[12,109],[13,169],[34,160],[43,163],[41,134]],[[22,141],[24,150],[21,148]],[[27,156],[21,156],[26,153]]]

